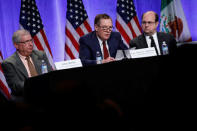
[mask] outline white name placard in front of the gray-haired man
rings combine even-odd
[[[80,59],[60,61],[60,62],[55,62],[55,67],[56,70],[70,69],[70,68],[82,67],[82,63]]]

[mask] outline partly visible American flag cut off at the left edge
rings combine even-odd
[[[1,68],[2,61],[3,61],[3,56],[2,56],[1,51],[0,51],[0,92],[5,96],[5,98],[7,100],[9,100],[11,98],[11,95],[10,95],[11,90],[8,87],[5,76],[3,74],[3,70]]]

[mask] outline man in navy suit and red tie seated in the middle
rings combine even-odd
[[[79,39],[79,58],[83,65],[96,64],[96,53],[101,54],[101,63],[114,61],[117,50],[127,49],[118,32],[112,32],[112,19],[107,14],[99,14],[94,20],[95,31]]]

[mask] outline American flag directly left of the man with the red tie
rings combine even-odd
[[[65,60],[79,57],[79,38],[91,31],[82,0],[67,0]]]

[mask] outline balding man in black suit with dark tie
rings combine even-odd
[[[130,41],[130,48],[149,48],[155,47],[157,55],[164,55],[162,45],[166,44],[168,53],[176,52],[176,40],[171,34],[157,32],[159,17],[153,11],[148,11],[142,15],[143,34]],[[154,45],[152,42],[154,41]]]

